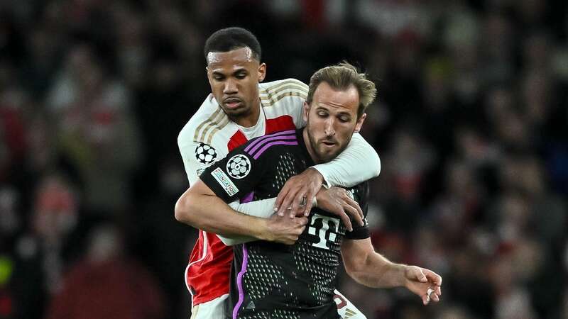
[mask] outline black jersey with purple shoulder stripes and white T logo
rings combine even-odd
[[[226,203],[277,196],[288,178],[314,164],[302,132],[285,130],[251,140],[205,169],[201,179]],[[366,216],[367,183],[347,191]],[[295,245],[255,241],[235,246],[227,318],[339,318],[333,298],[342,240],[369,236],[367,225],[353,225],[348,232],[337,216],[314,208]]]

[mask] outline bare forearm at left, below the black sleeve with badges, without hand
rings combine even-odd
[[[265,239],[266,220],[232,210],[217,196],[188,194],[175,204],[175,219],[209,233]]]

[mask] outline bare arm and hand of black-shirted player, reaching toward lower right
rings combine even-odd
[[[425,305],[439,301],[442,277],[429,269],[395,264],[373,249],[371,239],[345,239],[341,247],[345,270],[351,278],[368,287],[406,287]]]

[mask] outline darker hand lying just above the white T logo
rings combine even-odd
[[[347,195],[347,191],[341,187],[329,187],[329,189],[320,189],[316,195],[317,207],[333,213],[343,221],[347,230],[352,231],[351,218],[363,226],[363,211],[359,207],[359,203]]]

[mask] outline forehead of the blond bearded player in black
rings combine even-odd
[[[359,108],[359,91],[353,85],[346,90],[334,90],[327,82],[317,86],[312,101],[315,106],[321,106],[356,114]]]

